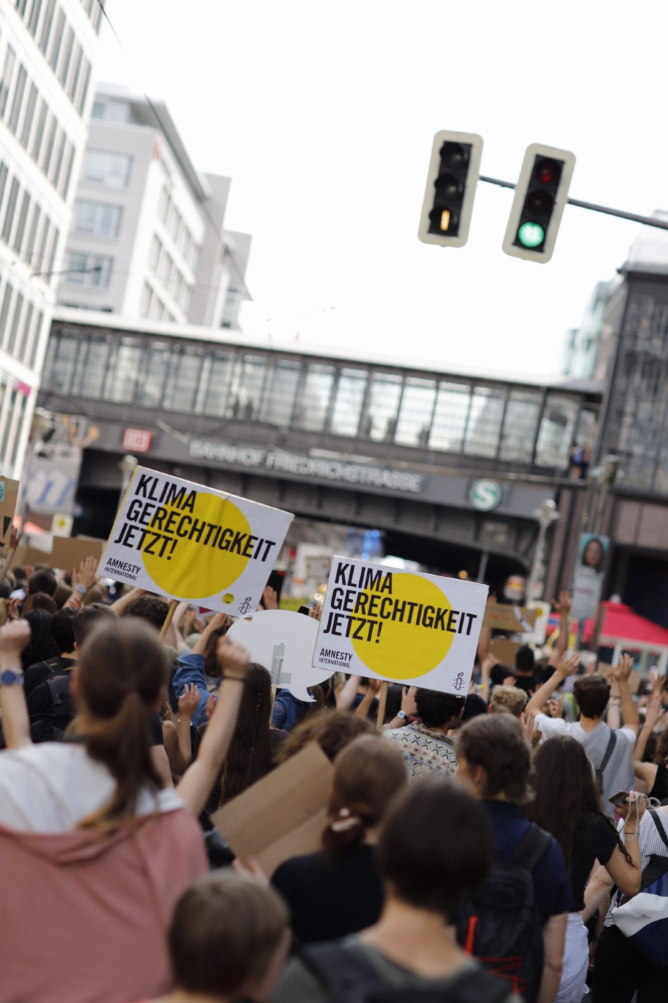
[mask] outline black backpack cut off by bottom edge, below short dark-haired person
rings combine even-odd
[[[304,947],[298,957],[331,1003],[506,1003],[511,995],[508,984],[479,970],[457,976],[444,991],[388,986],[360,950],[341,942]]]

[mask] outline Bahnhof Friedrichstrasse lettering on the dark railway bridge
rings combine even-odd
[[[422,490],[423,477],[421,473],[392,470],[366,463],[347,463],[339,459],[302,456],[298,453],[286,452],[283,449],[262,449],[257,446],[231,445],[227,442],[192,439],[189,452],[194,459],[208,459],[214,463],[229,463],[234,466],[275,470],[277,473],[291,473],[299,477],[360,484],[366,487],[384,487],[386,490],[406,491],[411,494],[419,494]]]

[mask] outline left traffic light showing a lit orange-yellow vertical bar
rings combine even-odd
[[[481,153],[474,132],[436,132],[417,232],[423,244],[460,248],[468,240]]]

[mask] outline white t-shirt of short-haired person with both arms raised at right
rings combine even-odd
[[[553,735],[571,735],[581,745],[595,769],[601,767],[610,740],[610,728],[604,721],[591,731],[585,731],[578,721],[565,721],[561,717],[548,717],[547,714],[536,715],[536,725],[543,732],[544,738]],[[616,742],[612,755],[603,771],[603,809],[611,818],[615,809],[608,798],[619,790],[633,790],[633,747],[636,744],[636,733],[633,728],[616,728]]]

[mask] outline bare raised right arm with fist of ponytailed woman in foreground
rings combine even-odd
[[[228,754],[250,667],[248,651],[238,641],[221,638],[216,656],[223,672],[221,695],[202,739],[198,757],[177,787],[195,815],[199,815],[207,803]]]

